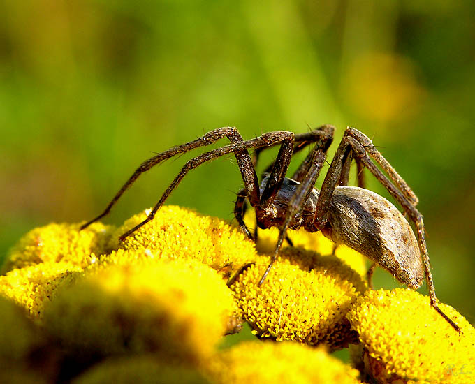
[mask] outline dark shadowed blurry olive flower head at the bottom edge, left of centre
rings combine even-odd
[[[75,378],[73,384],[205,384],[208,383],[195,369],[164,364],[155,356],[111,358],[94,365]]]

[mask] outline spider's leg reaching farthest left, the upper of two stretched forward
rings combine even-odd
[[[133,172],[132,176],[129,177],[129,179],[125,182],[125,184],[122,186],[121,189],[116,193],[116,195],[110,200],[109,204],[107,207],[105,207],[104,211],[96,216],[94,219],[88,221],[87,223],[83,224],[80,229],[84,229],[90,224],[94,223],[95,221],[98,221],[99,219],[102,219],[103,216],[107,215],[110,212],[110,209],[115,205],[117,200],[121,198],[121,196],[124,194],[124,192],[131,186],[134,182],[136,182],[136,179],[140,175],[142,175],[143,172],[147,172],[150,168],[154,167],[154,165],[157,165],[161,163],[162,161],[167,160],[168,158],[171,158],[173,156],[176,156],[178,154],[184,154],[186,152],[191,151],[191,149],[195,149],[198,147],[203,147],[205,145],[210,145],[217,140],[227,137],[231,140],[231,142],[236,142],[236,141],[242,141],[242,137],[238,130],[234,127],[224,127],[224,128],[217,128],[214,129],[213,131],[207,132],[205,135],[202,137],[193,140],[191,142],[187,142],[182,145],[177,145],[175,147],[172,147],[170,149],[167,149],[164,152],[161,152],[159,154],[156,154],[155,156],[145,160],[142,164],[138,166],[138,168]],[[244,153],[237,153],[236,157],[240,157],[244,162],[251,163],[251,158],[249,156],[249,153],[247,151]],[[254,168],[252,168],[254,169]],[[259,200],[259,195],[258,195],[258,181],[257,181],[257,176],[251,175],[251,173],[246,172],[246,175],[243,175],[243,179],[248,179],[248,184],[251,186],[249,188],[249,196],[256,200],[258,202]]]

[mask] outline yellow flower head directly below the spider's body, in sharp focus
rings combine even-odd
[[[358,273],[336,257],[286,248],[258,286],[269,260],[261,256],[231,285],[255,334],[333,348],[356,341],[345,316],[366,288]]]

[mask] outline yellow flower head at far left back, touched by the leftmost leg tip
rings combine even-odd
[[[10,249],[3,274],[14,268],[38,263],[65,261],[86,267],[96,256],[108,253],[111,226],[93,223],[85,230],[80,224],[52,223],[24,235]]]

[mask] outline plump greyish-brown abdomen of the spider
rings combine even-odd
[[[423,265],[416,236],[388,200],[367,189],[338,186],[327,218],[326,237],[367,256],[410,288],[421,286]]]

